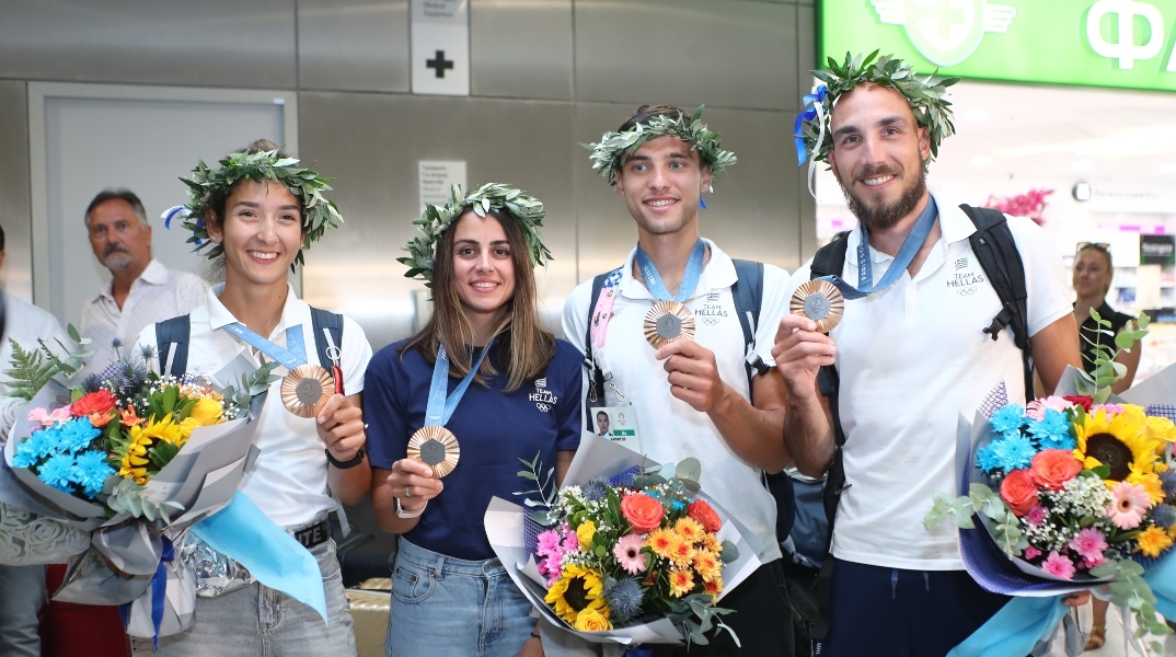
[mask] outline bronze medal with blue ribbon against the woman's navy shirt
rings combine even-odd
[[[446,353],[445,344],[437,348],[437,360],[433,363],[433,381],[429,384],[429,401],[425,407],[425,427],[417,429],[408,440],[408,457],[433,468],[433,474],[437,478],[448,475],[457,467],[461,447],[457,444],[457,436],[445,425],[453,417],[453,411],[457,410],[461,397],[474,381],[493,344],[492,337],[482,348],[477,362],[469,368],[466,377],[448,396],[446,391],[449,388],[449,354]]]

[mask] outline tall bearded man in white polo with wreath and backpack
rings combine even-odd
[[[797,121],[801,161],[830,166],[861,224],[842,239],[843,262],[830,274],[844,280],[822,281],[847,295],[844,315],[831,328],[784,315],[771,353],[788,389],[784,440],[797,468],[822,476],[843,463],[847,484],[818,653],[941,657],[1009,599],[964,571],[954,528],[923,527],[933,495],[956,491],[956,418],[971,417],[1002,380],[1010,401],[1025,398],[1031,376],[1011,327],[1023,322],[1050,390],[1065,366],[1080,366],[1077,329],[1061,257],[1024,217],[984,229],[989,242],[1003,241],[994,234],[1007,221],[1023,263],[1024,309],[1016,321],[1002,311],[1010,306],[970,239],[980,230],[974,208],[927,190],[927,167],[954,132],[944,100],[954,80],[876,54],[814,72],[827,87],[806,99],[813,108]],[[793,274],[789,296],[820,269],[814,262]],[[829,366],[836,388],[817,383]]]

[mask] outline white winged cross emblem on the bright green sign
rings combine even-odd
[[[901,25],[924,58],[938,66],[954,66],[980,47],[988,32],[1004,33],[1017,15],[1016,7],[988,0],[870,0],[878,19]]]

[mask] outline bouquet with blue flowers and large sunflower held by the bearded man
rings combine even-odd
[[[1165,575],[1176,568],[1170,556],[1176,471],[1165,457],[1176,425],[1157,407],[1127,403],[1130,390],[1124,400],[1110,398],[1111,356],[1109,350],[1097,356],[1107,371],[1068,369],[1055,396],[1025,407],[1009,403],[998,386],[975,422],[961,420],[964,496],[936,494],[924,519],[929,530],[949,519],[960,528],[961,556],[973,578],[987,590],[1018,596],[1005,611],[1042,618],[1025,629],[1033,641],[1016,644],[1020,653],[1044,638],[1041,632],[1048,636],[1062,612],[1050,601],[1029,611],[1025,597],[1107,586],[1102,591],[1112,602],[1135,612],[1137,637],[1170,632],[1157,609],[1176,615],[1176,572]],[[990,644],[1002,623],[1008,619],[998,614],[981,629],[993,633],[978,631],[969,641]]]

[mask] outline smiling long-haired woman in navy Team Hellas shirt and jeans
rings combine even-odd
[[[397,534],[389,657],[539,657],[532,606],[486,536],[490,498],[524,490],[520,458],[555,468],[580,444],[580,362],[544,330],[535,267],[543,205],[489,183],[429,206],[406,276],[433,291],[413,337],[381,349],[365,410],[376,523]]]

